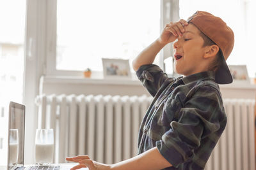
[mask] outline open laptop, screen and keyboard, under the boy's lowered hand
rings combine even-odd
[[[7,170],[63,170],[76,164],[52,164],[51,166],[24,166],[25,106],[10,102],[8,121],[8,159]],[[15,134],[18,142],[15,141]],[[14,143],[14,145],[13,145]],[[87,169],[87,168],[83,168]]]

